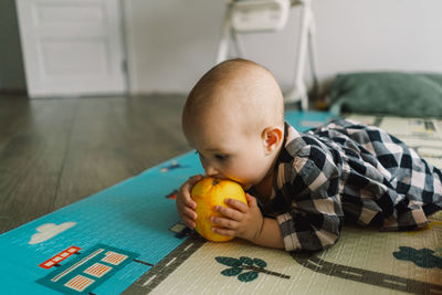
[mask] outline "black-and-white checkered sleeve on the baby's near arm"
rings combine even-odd
[[[291,162],[283,188],[290,210],[276,217],[286,251],[319,251],[339,239],[344,218],[339,202],[339,170],[319,144],[306,145]]]

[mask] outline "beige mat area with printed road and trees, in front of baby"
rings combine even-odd
[[[124,294],[442,294],[441,245],[442,212],[418,232],[345,226],[312,255],[192,235]]]

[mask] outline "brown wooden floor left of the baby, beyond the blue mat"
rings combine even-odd
[[[0,233],[190,150],[183,103],[0,96]]]

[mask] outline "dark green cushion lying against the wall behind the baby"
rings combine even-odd
[[[339,74],[329,91],[332,113],[442,117],[442,74]]]

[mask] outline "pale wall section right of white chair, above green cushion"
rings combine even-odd
[[[320,76],[403,70],[442,73],[442,1],[315,1]]]

